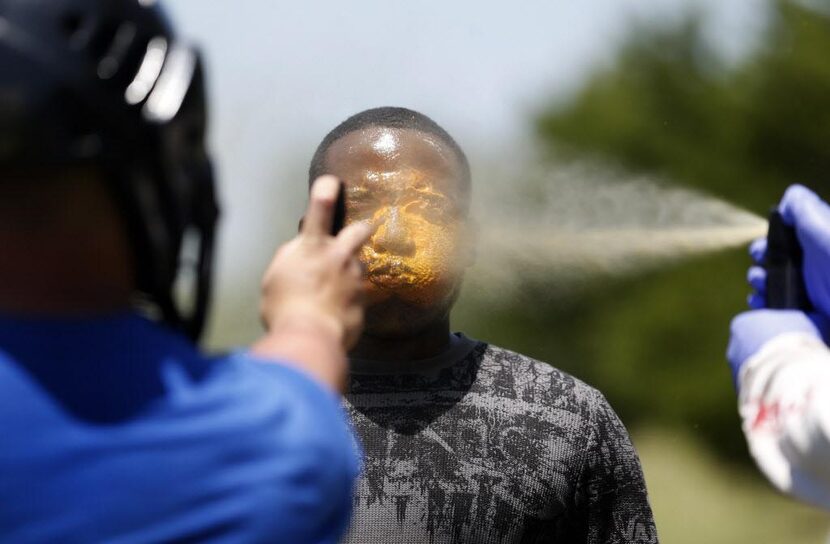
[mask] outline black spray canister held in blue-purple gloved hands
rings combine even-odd
[[[767,253],[767,308],[810,311],[813,305],[807,296],[802,262],[804,253],[795,229],[786,225],[777,210],[769,214]]]

